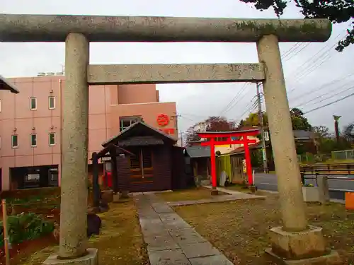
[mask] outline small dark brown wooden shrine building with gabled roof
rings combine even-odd
[[[152,126],[136,122],[103,143],[104,148],[115,146],[121,152],[111,160],[113,187],[117,182],[114,192],[183,189],[185,161],[183,148],[175,146],[176,141]]]

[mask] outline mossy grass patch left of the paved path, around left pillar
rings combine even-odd
[[[139,227],[133,201],[110,204],[110,210],[101,213],[101,235],[91,237],[89,247],[98,248],[99,264],[149,264],[147,250]],[[23,265],[41,265],[58,247],[47,247],[29,257]]]

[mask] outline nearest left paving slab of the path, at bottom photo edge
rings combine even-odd
[[[190,265],[181,249],[169,249],[149,253],[150,265]]]

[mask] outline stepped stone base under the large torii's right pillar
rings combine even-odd
[[[282,227],[270,229],[272,247],[265,252],[289,265],[342,264],[337,252],[327,249],[322,228],[309,225],[301,232],[287,232]]]

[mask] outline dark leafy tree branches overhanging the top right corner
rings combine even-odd
[[[275,14],[280,17],[284,13],[289,2],[295,3],[304,18],[328,18],[332,23],[345,23],[354,18],[353,0],[240,0],[246,4],[254,4],[258,10],[273,8]],[[336,50],[343,49],[354,43],[354,21],[352,27],[347,30],[347,35],[338,42]]]

